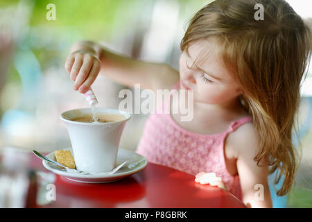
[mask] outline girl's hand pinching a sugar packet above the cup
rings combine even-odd
[[[65,69],[74,81],[73,89],[85,93],[96,80],[101,69],[101,61],[92,51],[78,50],[68,56]]]

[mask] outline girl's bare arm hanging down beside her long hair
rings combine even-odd
[[[260,151],[257,131],[252,123],[245,123],[237,130],[237,133],[232,143],[239,156],[236,167],[241,183],[243,203],[252,208],[272,207],[268,186],[268,163],[261,160],[258,166],[254,161],[254,157]]]

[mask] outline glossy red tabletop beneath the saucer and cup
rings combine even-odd
[[[32,168],[46,171],[32,153]],[[43,207],[245,207],[229,192],[200,185],[189,173],[148,163],[143,171],[117,182],[87,184],[57,176],[56,200]]]

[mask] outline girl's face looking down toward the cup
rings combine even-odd
[[[196,62],[198,58],[200,61]],[[227,103],[241,94],[239,86],[219,62],[217,44],[210,39],[198,40],[183,51],[180,88],[193,89],[194,102],[208,104]]]

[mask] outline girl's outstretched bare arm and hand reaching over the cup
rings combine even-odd
[[[169,65],[121,56],[89,41],[73,44],[65,68],[75,81],[73,88],[82,93],[94,83],[100,71],[117,83],[129,87],[139,83],[144,89],[171,89],[179,81],[178,71]]]

